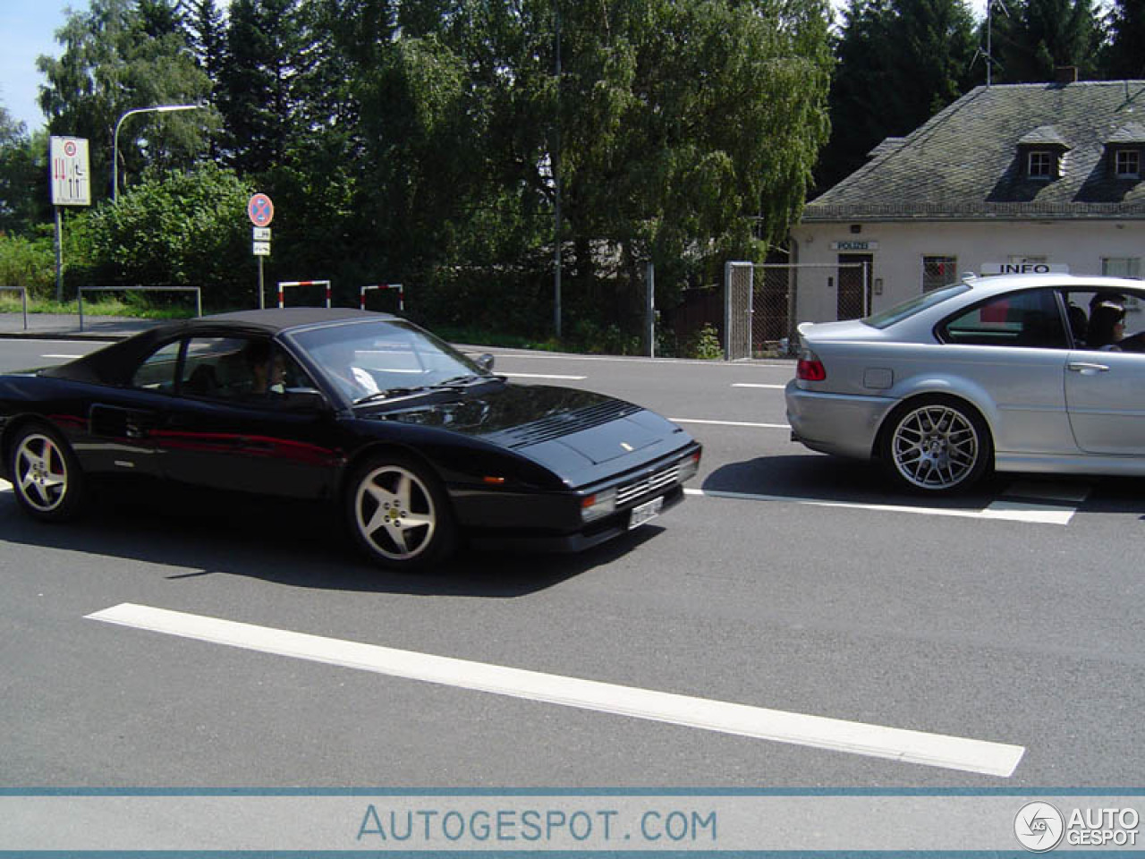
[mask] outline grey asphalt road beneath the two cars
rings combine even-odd
[[[93,346],[2,341],[0,369]],[[48,527],[2,491],[0,787],[1140,783],[1139,481],[1003,475],[919,499],[789,441],[789,362],[496,354],[515,381],[680,420],[705,446],[687,502],[583,555],[472,553],[412,576],[362,562],[306,505],[111,495]],[[89,618],[123,604],[464,662],[427,683]],[[650,703],[466,687],[485,665]],[[653,693],[686,718],[660,720]],[[798,742],[726,733],[722,704],[790,715]],[[887,733],[879,756],[856,726]],[[950,738],[1016,766],[905,751]]]

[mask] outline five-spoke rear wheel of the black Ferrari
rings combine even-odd
[[[47,522],[74,518],[84,497],[84,473],[68,442],[32,424],[16,433],[10,451],[8,474],[21,507]]]

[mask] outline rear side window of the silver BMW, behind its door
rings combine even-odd
[[[1051,290],[1010,293],[974,305],[939,326],[943,342],[1066,349],[1061,310]]]

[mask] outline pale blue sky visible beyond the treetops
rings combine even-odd
[[[842,5],[840,0],[831,0]],[[982,15],[986,0],[972,0]],[[0,104],[29,132],[40,128],[44,113],[38,97],[44,77],[35,69],[41,54],[60,55],[55,32],[63,26],[66,10],[86,9],[86,0],[0,0]]]

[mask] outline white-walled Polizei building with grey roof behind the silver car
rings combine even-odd
[[[1145,80],[978,87],[807,204],[796,322],[1000,267],[1145,276],[1143,161]]]

